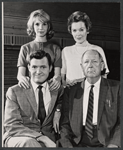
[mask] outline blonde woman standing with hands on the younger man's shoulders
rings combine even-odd
[[[27,73],[29,54],[35,50],[44,50],[50,54],[54,65],[52,75],[49,77],[50,90],[58,90],[61,85],[61,50],[58,45],[49,41],[53,37],[54,31],[50,16],[44,10],[35,10],[30,14],[27,22],[27,34],[34,40],[21,46],[17,64],[19,85],[25,89],[29,88],[29,74]]]

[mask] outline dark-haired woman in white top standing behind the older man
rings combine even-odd
[[[68,32],[73,36],[75,44],[65,47],[62,51],[61,75],[64,86],[72,86],[83,80],[84,74],[80,65],[81,57],[89,49],[95,49],[102,55],[105,64],[103,76],[107,77],[109,73],[103,49],[87,41],[91,25],[88,15],[81,11],[72,13],[68,18]]]

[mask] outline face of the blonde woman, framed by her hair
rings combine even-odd
[[[45,37],[48,31],[48,24],[43,22],[40,17],[36,17],[34,21],[34,31],[36,37]]]

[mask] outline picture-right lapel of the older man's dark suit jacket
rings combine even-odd
[[[107,91],[108,91],[107,81],[104,78],[102,78],[101,84],[100,84],[100,92],[99,92],[98,121],[97,121],[98,126],[100,124],[100,120],[101,120],[102,113],[104,110],[104,103],[106,100]]]

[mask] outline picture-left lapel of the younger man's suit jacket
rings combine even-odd
[[[33,88],[30,84],[30,88],[29,89],[24,89],[24,92],[27,96],[27,99],[28,101],[30,102],[36,116],[38,115],[38,111],[37,111],[37,102],[36,102],[36,98],[35,98],[35,94],[34,94],[34,91],[33,91]]]

